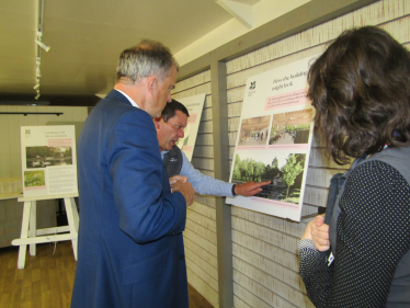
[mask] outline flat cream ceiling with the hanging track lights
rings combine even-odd
[[[214,0],[44,1],[41,100],[95,98],[113,85],[119,53],[141,38],[174,54],[232,19]],[[36,0],[0,0],[0,104],[36,95],[37,11]]]

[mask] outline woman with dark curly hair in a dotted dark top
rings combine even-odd
[[[329,155],[355,161],[328,227],[331,258],[315,220],[298,243],[307,294],[316,307],[410,307],[410,53],[378,27],[351,30],[308,83]]]

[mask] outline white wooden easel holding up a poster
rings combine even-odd
[[[21,226],[20,239],[13,240],[11,243],[13,246],[20,246],[19,249],[19,261],[18,269],[24,269],[25,266],[25,254],[27,250],[27,244],[30,244],[30,255],[35,255],[35,244],[42,242],[56,242],[56,241],[67,241],[71,240],[72,251],[75,253],[75,259],[77,260],[77,237],[78,237],[78,226],[79,216],[76,207],[75,197],[78,194],[65,194],[65,195],[50,195],[50,196],[33,196],[33,197],[20,197],[19,202],[24,202],[23,207],[23,221]],[[55,227],[55,228],[36,228],[36,202],[42,199],[54,199],[62,198],[68,226]],[[66,232],[64,235],[58,235]],[[68,232],[68,233],[67,233]]]

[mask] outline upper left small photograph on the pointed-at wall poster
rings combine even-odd
[[[270,115],[242,119],[238,146],[266,145],[270,122]]]

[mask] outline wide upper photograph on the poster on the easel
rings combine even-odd
[[[71,147],[25,147],[26,168],[72,164]]]

